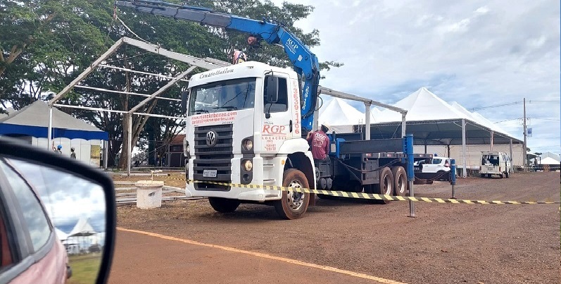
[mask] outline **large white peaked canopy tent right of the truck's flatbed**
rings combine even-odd
[[[458,103],[450,105],[426,87],[417,89],[393,106],[407,111],[407,132],[415,137],[415,144],[424,146],[425,152],[428,152],[430,145],[446,147],[446,155],[453,158],[457,156],[455,159],[458,159],[458,166],[462,166],[464,177],[467,176],[469,161],[480,161],[481,151],[510,152],[510,156],[513,156],[512,145],[523,144],[521,140],[512,137],[479,113],[470,113]],[[401,137],[399,133],[403,118],[399,113],[384,110],[374,117],[374,121],[370,126],[370,135],[367,134],[370,139]],[[360,127],[362,125],[355,125],[355,129]],[[508,150],[497,149],[496,145],[508,145]],[[520,151],[517,151],[516,156],[522,156],[519,159],[522,164],[523,154],[518,152]],[[477,159],[474,156],[477,156]],[[479,168],[479,165],[477,166]]]

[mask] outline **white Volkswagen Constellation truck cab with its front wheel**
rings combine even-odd
[[[314,188],[300,98],[293,70],[264,63],[249,61],[192,76],[184,141],[187,197],[209,197],[221,212],[234,211],[241,202],[263,202],[275,204],[285,218],[303,214],[309,194],[257,186]],[[298,178],[287,183],[289,169],[298,171]]]

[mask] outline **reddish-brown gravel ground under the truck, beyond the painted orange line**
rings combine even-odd
[[[458,199],[559,202],[560,173],[458,179],[455,188]],[[448,198],[451,187],[446,182],[415,185],[415,196]],[[405,283],[561,282],[559,204],[416,202],[415,209],[417,217],[409,218],[408,202],[320,199],[303,218],[282,221],[272,206],[246,204],[233,214],[219,214],[202,199],[167,202],[149,211],[120,206],[118,226]],[[132,257],[119,244],[112,278],[125,272],[128,266],[122,264],[156,267],[169,254]]]

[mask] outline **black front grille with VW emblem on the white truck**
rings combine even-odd
[[[210,125],[195,128],[194,153],[196,159],[193,161],[193,178],[195,180],[212,180],[220,182],[231,182],[232,158],[234,158],[232,124]],[[206,144],[206,134],[214,130],[217,133],[217,142],[214,147]],[[216,178],[203,177],[203,170],[216,170]],[[212,185],[209,183],[195,183],[198,190],[229,190],[229,187]]]

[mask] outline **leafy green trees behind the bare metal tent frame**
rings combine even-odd
[[[217,11],[260,19],[274,18],[294,32],[309,47],[320,44],[319,32],[305,33],[294,27],[297,20],[313,12],[312,6],[283,3],[275,6],[271,1],[220,0],[192,1],[190,5],[215,8]],[[197,57],[212,57],[230,61],[232,51],[246,49],[251,60],[273,66],[291,66],[281,48],[264,45],[250,49],[246,36],[240,32],[204,27],[171,18],[139,13],[134,9],[117,11],[118,16],[139,37],[158,43],[165,49]],[[63,89],[87,68],[100,54],[122,36],[134,37],[127,28],[113,18],[113,0],[0,0],[0,104],[20,109],[37,99],[49,99]],[[177,76],[189,66],[162,56],[139,51],[132,47],[120,48],[106,64],[118,68],[140,70],[147,73]],[[325,61],[322,68],[340,66]],[[194,73],[201,71],[195,70]],[[87,87],[113,89],[125,92],[151,94],[165,85],[166,80],[139,73],[103,69],[90,74],[80,84]],[[179,98],[184,84],[172,87],[163,97]],[[95,89],[75,88],[65,96],[62,104],[78,104],[100,109],[128,111],[144,97],[130,94],[109,94]],[[112,158],[122,149],[126,140],[127,121],[119,113],[65,109],[101,130],[109,133]],[[179,116],[179,105],[155,99],[139,112],[158,112],[166,116]],[[133,116],[133,145],[147,140],[144,126],[149,123],[157,139],[171,140],[181,128],[180,121],[167,118]],[[125,128],[123,128],[123,126]],[[122,149],[120,167],[125,168],[127,149]]]

